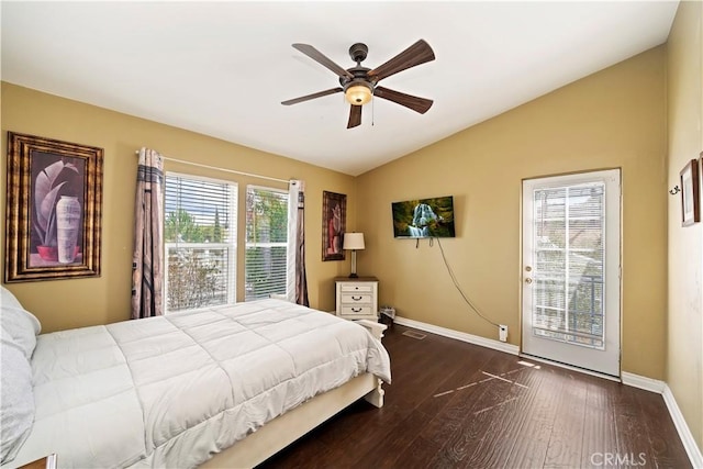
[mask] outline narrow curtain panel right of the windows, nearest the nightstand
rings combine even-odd
[[[291,180],[288,185],[288,300],[310,305],[305,276],[305,183]]]

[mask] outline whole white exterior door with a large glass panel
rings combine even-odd
[[[523,353],[620,377],[621,175],[523,181]]]

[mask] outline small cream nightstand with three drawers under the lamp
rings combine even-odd
[[[378,279],[336,277],[336,315],[345,320],[378,321]]]

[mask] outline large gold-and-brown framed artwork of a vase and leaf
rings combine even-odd
[[[8,132],[4,281],[100,276],[103,149]]]

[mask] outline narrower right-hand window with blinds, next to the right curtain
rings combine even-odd
[[[288,192],[247,186],[245,301],[286,293]]]

